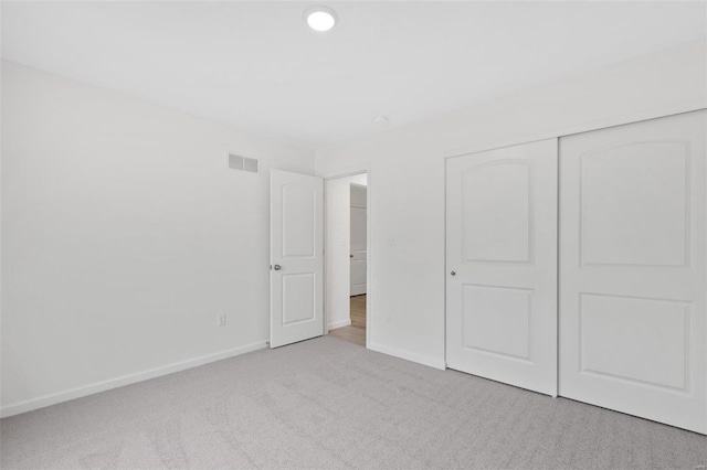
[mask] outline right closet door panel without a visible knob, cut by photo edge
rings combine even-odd
[[[560,140],[560,394],[707,432],[707,111]]]

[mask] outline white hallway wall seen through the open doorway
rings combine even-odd
[[[329,329],[351,324],[351,183],[367,184],[367,181],[365,173],[326,181],[326,314]]]

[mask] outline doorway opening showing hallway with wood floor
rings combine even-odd
[[[368,322],[368,174],[326,181],[326,327],[366,346]]]

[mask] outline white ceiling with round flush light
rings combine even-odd
[[[313,3],[2,2],[2,56],[316,149],[707,35],[704,1]]]

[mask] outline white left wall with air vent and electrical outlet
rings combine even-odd
[[[3,63],[3,413],[264,346],[271,167],[314,156]]]

